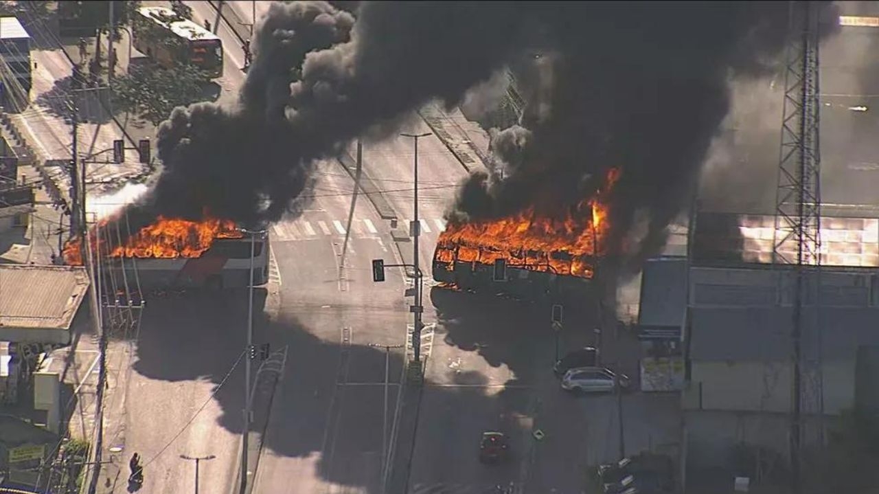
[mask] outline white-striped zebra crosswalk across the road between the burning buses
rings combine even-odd
[[[399,220],[399,228],[408,229],[409,220]],[[442,218],[419,219],[421,233],[425,235],[439,234],[446,229],[446,220]],[[358,238],[378,236],[388,233],[390,225],[384,222],[374,222],[369,218],[354,218],[350,229],[347,219],[314,219],[297,218],[292,221],[283,221],[272,224],[272,242],[290,242],[295,240],[313,240],[324,236],[350,235]]]

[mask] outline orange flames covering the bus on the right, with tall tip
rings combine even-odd
[[[607,196],[619,178],[619,169],[609,170],[594,197],[560,218],[541,216],[529,207],[490,222],[449,224],[439,235],[434,260],[451,267],[455,260],[490,265],[505,259],[508,266],[529,271],[592,278],[592,259],[604,254],[610,228]]]

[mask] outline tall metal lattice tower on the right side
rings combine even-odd
[[[817,414],[820,418],[824,411],[820,329],[817,320],[815,324],[807,323],[820,306],[822,260],[817,6],[812,2],[790,2],[789,18],[773,263],[792,268],[779,270],[779,301],[787,305],[787,294],[791,295],[791,491],[800,494],[803,416]],[[815,310],[806,310],[807,305]],[[810,328],[814,328],[815,335],[807,338],[815,354],[804,355],[803,330]],[[821,430],[820,420],[817,429]]]

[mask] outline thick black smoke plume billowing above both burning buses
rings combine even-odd
[[[777,60],[788,3],[361,2],[356,15],[325,2],[272,5],[240,108],[193,105],[160,128],[164,169],[134,208],[143,222],[205,210],[278,220],[301,205],[316,159],[385,136],[434,98],[455,105],[545,50],[557,56],[551,113],[498,134],[504,163],[469,179],[450,218],[576,204],[620,167],[611,247],[643,255],[689,201],[730,76]],[[627,244],[644,211],[647,235]]]

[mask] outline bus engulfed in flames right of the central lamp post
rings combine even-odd
[[[595,197],[556,217],[529,207],[497,220],[449,222],[433,253],[433,279],[477,290],[503,281],[502,291],[530,300],[582,294],[604,253],[607,193],[618,178],[612,169]],[[504,273],[496,272],[498,259]]]

